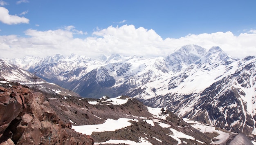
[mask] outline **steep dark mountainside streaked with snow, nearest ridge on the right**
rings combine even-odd
[[[247,57],[229,65],[191,65],[179,77],[169,80],[164,86],[168,91],[155,88],[157,92],[152,97],[148,88],[153,84],[147,84],[138,89],[141,93],[135,97],[146,105],[167,107],[181,117],[233,132],[256,134],[255,63],[255,57]]]

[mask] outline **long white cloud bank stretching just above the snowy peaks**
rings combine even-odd
[[[181,38],[163,40],[153,29],[134,25],[97,29],[92,36],[76,38],[86,32],[67,26],[63,29],[38,31],[28,29],[26,37],[16,35],[0,36],[0,57],[14,58],[25,55],[53,56],[72,53],[96,57],[100,54],[122,54],[126,56],[167,56],[183,45],[196,44],[206,49],[219,46],[232,57],[256,56],[256,31],[250,30],[234,36],[230,31],[189,34]]]

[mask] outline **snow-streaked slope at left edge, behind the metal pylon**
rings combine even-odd
[[[79,94],[74,93],[68,89],[64,89],[58,85],[53,83],[47,83],[45,80],[38,78],[36,82],[33,82],[32,78],[38,78],[34,76],[34,74],[25,71],[16,67],[15,65],[11,65],[4,60],[0,59],[0,78],[4,78],[10,82],[19,82],[22,85],[27,85],[32,87],[34,84],[38,87],[39,90],[46,91],[54,94],[62,94],[68,96],[79,96]]]

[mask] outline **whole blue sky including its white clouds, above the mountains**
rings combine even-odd
[[[22,50],[41,56],[76,51],[164,56],[193,43],[238,51],[235,57],[256,55],[255,6],[256,0],[0,0],[0,50],[13,51],[9,57]],[[137,42],[137,36],[144,38]],[[64,49],[62,40],[69,42]],[[245,49],[248,53],[239,53]],[[145,50],[152,53],[141,54]]]

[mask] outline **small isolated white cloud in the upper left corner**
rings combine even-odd
[[[4,24],[20,24],[20,23],[29,23],[29,19],[25,17],[19,17],[16,15],[9,15],[8,9],[0,7],[0,21]]]

